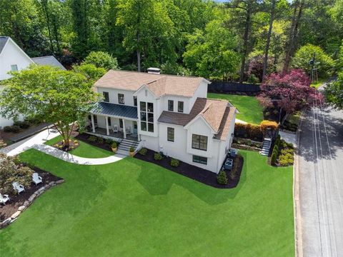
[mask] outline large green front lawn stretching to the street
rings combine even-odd
[[[0,256],[294,256],[292,167],[241,151],[239,186],[217,189],[125,158],[21,159],[65,179],[0,231]]]

